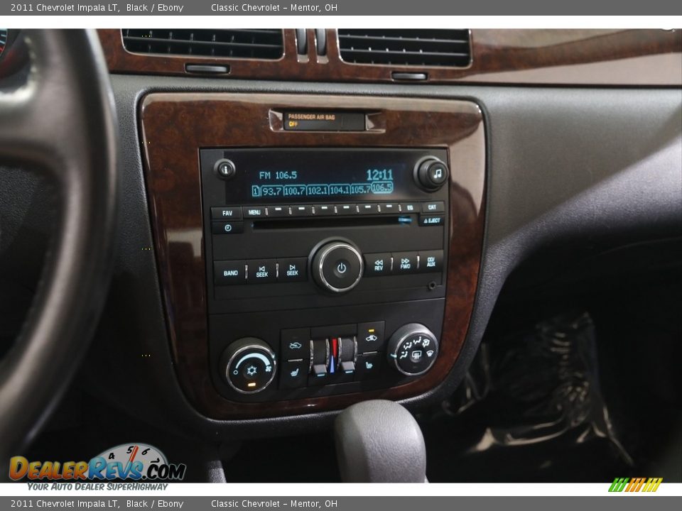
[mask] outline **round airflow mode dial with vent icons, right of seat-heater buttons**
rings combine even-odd
[[[389,366],[407,376],[426,373],[438,356],[438,339],[423,324],[401,326],[389,339]]]

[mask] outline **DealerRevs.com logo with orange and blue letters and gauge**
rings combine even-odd
[[[90,461],[28,461],[23,456],[9,460],[9,477],[31,481],[183,480],[187,466],[168,463],[166,456],[147,444],[121,444],[94,456]]]

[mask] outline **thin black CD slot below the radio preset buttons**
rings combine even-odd
[[[254,231],[271,229],[324,229],[328,227],[409,226],[411,224],[417,224],[416,215],[256,219],[254,220]]]

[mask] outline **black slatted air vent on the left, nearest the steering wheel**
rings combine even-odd
[[[279,29],[168,30],[124,28],[131,53],[276,60],[284,55]]]

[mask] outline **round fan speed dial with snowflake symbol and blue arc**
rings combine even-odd
[[[245,337],[230,344],[222,354],[224,379],[241,394],[264,390],[275,377],[277,365],[270,346],[255,337]]]

